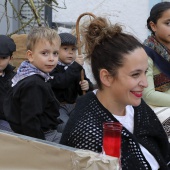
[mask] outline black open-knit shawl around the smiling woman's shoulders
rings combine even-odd
[[[157,160],[160,170],[168,170],[170,144],[167,135],[152,109],[142,100],[134,107],[134,132],[122,129],[121,166],[123,170],[151,170],[139,143]],[[70,116],[60,143],[79,149],[102,152],[104,122],[118,121],[99,102],[93,92],[80,97]],[[170,165],[169,165],[170,166]]]

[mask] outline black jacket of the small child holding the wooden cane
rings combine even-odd
[[[78,95],[82,95],[79,82],[81,81],[82,66],[74,62],[65,70],[64,66],[57,65],[50,73],[54,76],[51,82],[52,89],[59,102],[75,103]],[[89,90],[93,90],[93,85],[84,74],[84,79],[89,82]]]

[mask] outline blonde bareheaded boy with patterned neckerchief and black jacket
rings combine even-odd
[[[29,32],[28,61],[17,69],[4,101],[4,114],[15,133],[59,142],[59,102],[51,89],[49,72],[57,65],[60,44],[53,29],[35,27]]]

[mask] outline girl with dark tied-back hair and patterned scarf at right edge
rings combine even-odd
[[[155,111],[170,139],[170,2],[152,7],[147,27],[151,35],[143,43],[149,56],[148,87],[143,99]]]

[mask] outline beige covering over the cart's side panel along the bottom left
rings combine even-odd
[[[0,131],[1,170],[118,170],[118,159]]]

